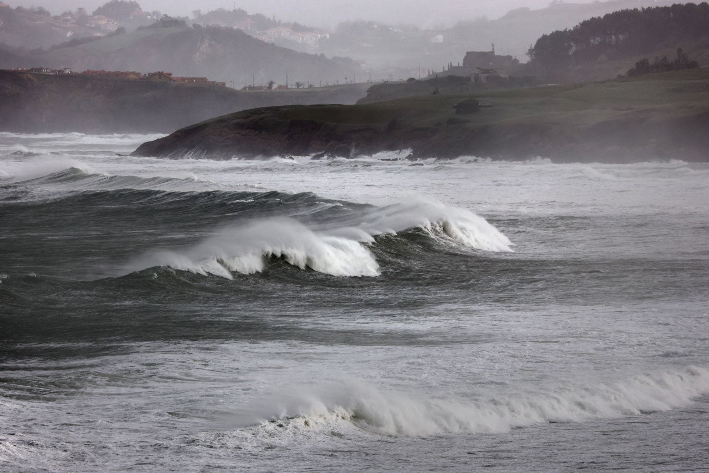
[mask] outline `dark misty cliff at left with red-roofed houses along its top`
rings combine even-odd
[[[325,89],[240,92],[228,87],[0,71],[0,130],[16,133],[169,133],[246,108],[341,102],[358,84]]]

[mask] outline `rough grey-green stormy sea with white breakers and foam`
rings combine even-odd
[[[0,133],[3,472],[707,471],[709,165]]]

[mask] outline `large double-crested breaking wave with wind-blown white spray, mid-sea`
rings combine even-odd
[[[188,250],[157,250],[130,262],[130,272],[171,267],[233,279],[262,272],[270,258],[324,274],[374,277],[379,264],[370,250],[376,235],[420,228],[459,245],[509,252],[512,243],[484,218],[435,202],[393,204],[306,226],[294,218],[268,218],[223,228]]]

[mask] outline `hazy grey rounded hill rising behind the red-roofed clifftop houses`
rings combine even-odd
[[[18,65],[0,64],[0,67]],[[26,56],[25,67],[69,67],[174,72],[235,84],[344,83],[359,65],[345,58],[328,59],[265,43],[241,30],[186,26],[163,18],[155,26],[67,45]]]

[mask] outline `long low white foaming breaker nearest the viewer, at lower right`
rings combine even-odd
[[[263,399],[254,412],[261,428],[276,419],[285,428],[325,428],[352,423],[384,435],[501,433],[545,422],[617,418],[686,406],[709,392],[709,371],[686,367],[650,372],[619,382],[562,386],[500,397],[419,397],[362,383],[321,386],[318,392],[289,386],[281,399]],[[269,406],[267,404],[270,403]],[[270,411],[269,411],[270,408]],[[258,422],[241,419],[242,422]]]

